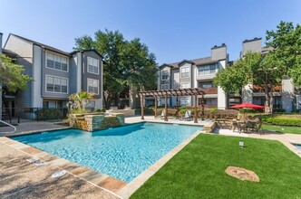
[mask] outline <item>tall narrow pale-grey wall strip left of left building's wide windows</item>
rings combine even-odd
[[[32,84],[32,105],[34,108],[43,107],[43,99],[41,95],[41,85],[42,85],[42,64],[43,64],[43,50],[40,46],[34,45],[34,63],[33,63],[33,78],[34,82]]]

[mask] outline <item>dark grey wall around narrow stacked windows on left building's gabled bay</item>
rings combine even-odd
[[[99,74],[88,72],[88,57],[99,61]],[[88,79],[98,80],[99,92],[95,94],[94,98],[102,99],[102,58],[95,52],[83,52],[82,64],[82,90],[88,90]]]

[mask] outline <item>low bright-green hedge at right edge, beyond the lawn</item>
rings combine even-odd
[[[263,123],[270,125],[301,127],[301,119],[299,118],[274,118],[270,116],[263,116],[262,121]]]

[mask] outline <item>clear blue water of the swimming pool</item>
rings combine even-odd
[[[93,133],[68,129],[14,139],[129,183],[200,129],[139,123]]]

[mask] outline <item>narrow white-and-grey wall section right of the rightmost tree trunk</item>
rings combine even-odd
[[[291,79],[282,80],[282,109],[286,109],[286,112],[293,111],[294,91],[295,89]]]

